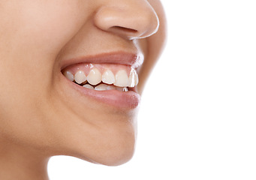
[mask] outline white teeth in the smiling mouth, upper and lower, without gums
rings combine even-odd
[[[129,76],[123,69],[117,71],[116,75],[114,75],[113,71],[110,69],[105,70],[103,74],[101,74],[101,71],[99,71],[98,68],[92,68],[87,76],[86,73],[81,70],[77,71],[75,74],[72,74],[71,71],[64,71],[63,74],[68,80],[75,81],[77,84],[85,84],[87,81],[89,84],[86,84],[83,87],[98,91],[117,89],[127,92],[127,87],[137,86],[139,82],[137,72],[133,68],[131,68]],[[105,84],[98,85],[101,81]],[[96,87],[94,88],[93,86]]]

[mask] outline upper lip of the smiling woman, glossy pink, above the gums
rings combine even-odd
[[[69,65],[75,65],[78,63],[94,63],[94,64],[119,64],[128,65],[133,68],[138,68],[143,64],[142,53],[132,52],[107,52],[97,55],[85,55],[76,58],[70,58],[62,61],[61,69],[68,67]]]

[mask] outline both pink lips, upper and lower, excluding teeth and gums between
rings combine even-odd
[[[116,53],[104,53],[100,55],[86,56],[82,58],[72,58],[62,62],[62,68],[64,69],[69,65],[78,63],[94,63],[94,64],[118,64],[129,65],[132,67],[138,67],[143,63],[143,55],[136,55],[133,53],[116,52]],[[101,102],[103,104],[110,105],[111,107],[121,108],[125,110],[131,110],[140,104],[140,95],[137,93],[136,87],[129,89],[129,92],[119,92],[117,90],[108,91],[95,91],[92,89],[86,89],[82,86],[72,83],[70,80],[62,75],[62,82],[67,86],[68,91],[77,91],[77,95],[92,100]]]

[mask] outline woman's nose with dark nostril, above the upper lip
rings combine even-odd
[[[110,0],[95,13],[95,26],[128,39],[144,38],[158,31],[159,20],[147,0]]]

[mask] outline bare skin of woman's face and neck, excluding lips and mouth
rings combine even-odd
[[[139,48],[141,94],[165,39],[158,0],[0,0],[0,178],[48,179],[47,162],[60,154],[108,166],[130,160],[138,108],[68,94],[59,65]]]

